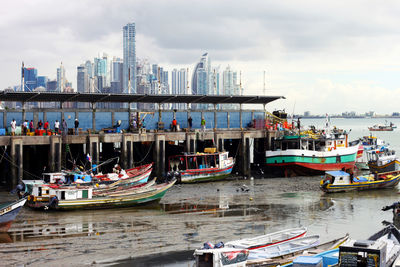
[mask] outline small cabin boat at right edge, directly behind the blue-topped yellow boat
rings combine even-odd
[[[367,151],[368,167],[372,173],[400,170],[400,161],[394,150],[387,148]]]

